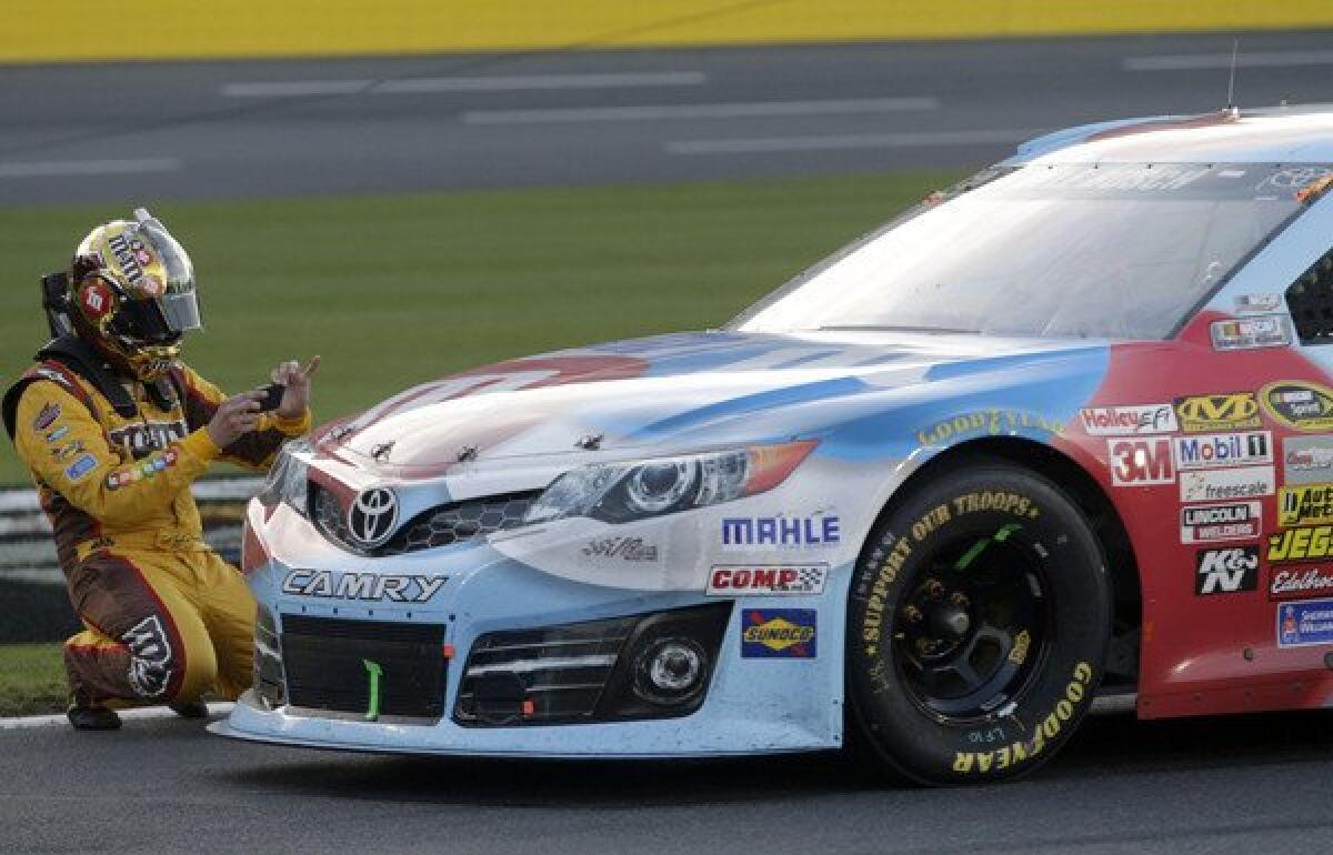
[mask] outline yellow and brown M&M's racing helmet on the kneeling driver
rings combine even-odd
[[[144,382],[171,370],[184,334],[201,326],[195,266],[144,208],[133,221],[112,220],[83,238],[68,288],[75,333],[112,368]]]

